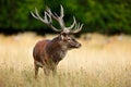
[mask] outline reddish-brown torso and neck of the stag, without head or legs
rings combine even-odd
[[[58,64],[59,61],[66,57],[68,51],[64,47],[66,46],[62,46],[58,38],[52,40],[41,40],[37,42],[34,48],[34,60],[41,64],[51,60],[55,64]]]

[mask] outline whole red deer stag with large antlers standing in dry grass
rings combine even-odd
[[[81,47],[81,44],[79,44],[71,34],[79,33],[82,29],[83,24],[76,24],[75,17],[73,17],[72,25],[70,27],[66,27],[62,5],[60,16],[52,13],[49,8],[45,11],[44,18],[39,16],[37,9],[35,9],[35,14],[33,12],[31,12],[31,14],[44,24],[47,24],[55,32],[60,33],[52,40],[47,39],[38,41],[33,50],[35,77],[37,77],[39,67],[43,67],[44,73],[49,75],[50,70],[52,73],[56,72],[58,63],[66,57],[68,50]],[[60,24],[61,29],[57,29],[52,26],[52,18]]]

